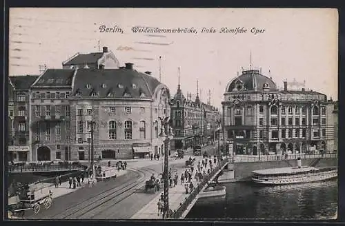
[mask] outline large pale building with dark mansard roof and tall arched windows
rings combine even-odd
[[[112,68],[113,57],[92,68],[95,59],[69,60],[73,68],[48,69],[31,85],[32,161],[88,159],[92,121],[95,158],[163,154],[159,117],[170,116],[166,85],[132,63]]]

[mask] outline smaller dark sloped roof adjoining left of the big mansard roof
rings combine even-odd
[[[74,73],[75,69],[47,69],[32,84],[32,88],[71,87]]]

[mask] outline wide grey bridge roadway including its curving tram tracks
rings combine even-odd
[[[212,147],[210,147],[212,149]],[[188,150],[193,154],[191,150]],[[212,152],[213,154],[213,152]],[[164,157],[164,156],[163,156]],[[169,158],[169,165],[172,168],[184,170],[185,161],[189,158],[186,154],[184,159]],[[111,165],[117,161],[111,161]],[[32,211],[26,212],[24,218],[70,218],[70,219],[128,219],[137,214],[150,201],[154,200],[161,192],[153,194],[144,192],[144,184],[152,174],[158,176],[163,172],[162,158],[131,159],[128,163],[126,174],[99,181],[95,186],[81,186],[78,189],[69,189],[63,184],[55,189],[52,187],[53,199],[50,209],[41,209],[39,214],[34,215]],[[99,164],[106,165],[108,161],[101,161]],[[180,172],[180,171],[179,171]],[[125,173],[125,172],[124,172]],[[180,174],[180,173],[179,173]],[[179,180],[179,183],[180,180]],[[184,187],[183,187],[184,188]],[[170,196],[182,196],[181,187],[176,187],[170,192]],[[162,191],[162,190],[161,190]],[[177,200],[177,198],[174,198]],[[179,203],[171,201],[171,207]],[[157,202],[155,202],[155,213],[157,213]],[[144,218],[144,217],[143,217]]]

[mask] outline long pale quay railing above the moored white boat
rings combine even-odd
[[[279,160],[294,160],[297,158],[337,158],[337,154],[325,153],[325,154],[275,154],[275,155],[235,155],[232,157],[235,163],[250,163],[250,162],[266,162],[266,161],[279,161]]]

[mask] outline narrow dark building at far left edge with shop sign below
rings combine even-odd
[[[36,75],[9,76],[8,156],[10,161],[31,160],[30,85]]]

